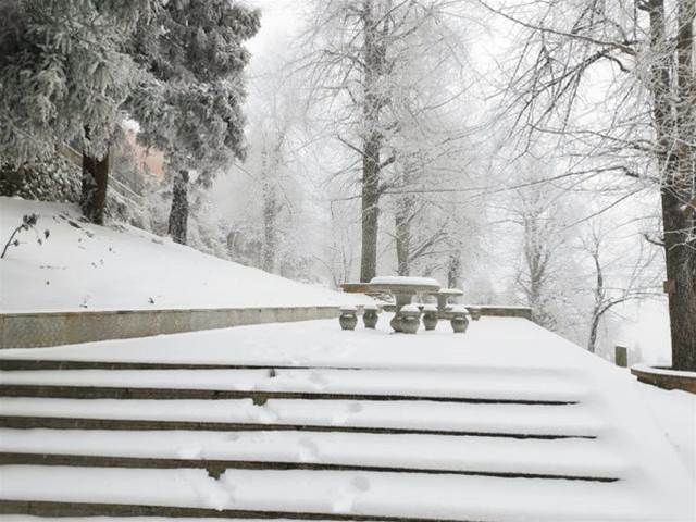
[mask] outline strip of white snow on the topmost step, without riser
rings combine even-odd
[[[558,372],[530,383],[502,371],[440,370],[46,370],[0,372],[1,385],[300,391],[353,395],[579,401],[579,375]],[[465,380],[462,380],[465,376]]]

